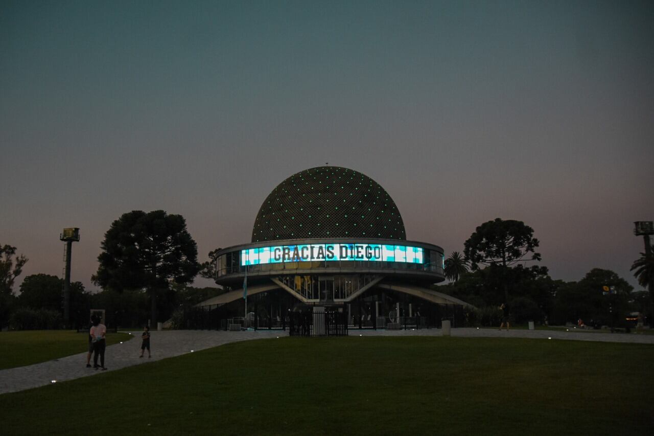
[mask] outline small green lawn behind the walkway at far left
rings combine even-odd
[[[127,333],[107,333],[107,345],[126,341]],[[88,333],[74,330],[5,331],[0,333],[0,369],[24,367],[88,350]]]

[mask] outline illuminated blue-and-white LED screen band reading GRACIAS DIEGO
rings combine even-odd
[[[276,245],[241,250],[241,266],[313,261],[424,263],[424,249],[386,244]]]

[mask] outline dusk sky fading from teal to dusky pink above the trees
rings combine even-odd
[[[186,218],[199,260],[324,165],[407,239],[525,221],[555,279],[636,286],[654,221],[651,1],[0,1],[0,244],[90,277],[122,213]],[[196,285],[208,285],[196,280]],[[636,289],[641,289],[636,287]]]

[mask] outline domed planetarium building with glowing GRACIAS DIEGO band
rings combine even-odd
[[[444,280],[443,259],[438,245],[407,240],[379,183],[347,168],[310,168],[267,196],[249,243],[218,251],[216,283],[226,293],[199,304],[194,325],[286,329],[303,314],[301,334],[323,334],[330,325],[307,327],[323,313],[340,320],[339,334],[456,325],[468,304],[431,286]]]

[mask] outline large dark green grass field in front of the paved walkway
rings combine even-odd
[[[7,435],[647,434],[653,358],[569,340],[284,337],[7,393],[0,414]]]

